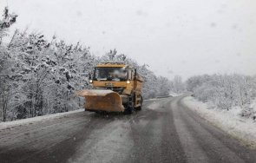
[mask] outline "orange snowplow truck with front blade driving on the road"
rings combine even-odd
[[[122,62],[99,63],[89,82],[93,89],[77,92],[77,95],[85,98],[86,111],[131,114],[142,107],[143,79],[129,65]]]

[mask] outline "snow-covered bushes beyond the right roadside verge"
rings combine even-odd
[[[248,75],[198,75],[187,79],[187,89],[200,101],[212,101],[218,108],[241,108],[242,116],[252,117],[256,79]]]

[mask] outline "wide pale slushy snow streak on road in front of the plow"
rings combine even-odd
[[[112,121],[106,127],[98,128],[89,135],[68,162],[123,162],[134,142],[129,138],[129,121]]]

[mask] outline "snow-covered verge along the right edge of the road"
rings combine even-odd
[[[187,108],[192,109],[216,127],[220,127],[246,146],[256,148],[256,121],[241,117],[240,108],[222,110],[214,108],[211,103],[197,101],[191,96],[184,98],[183,102]]]

